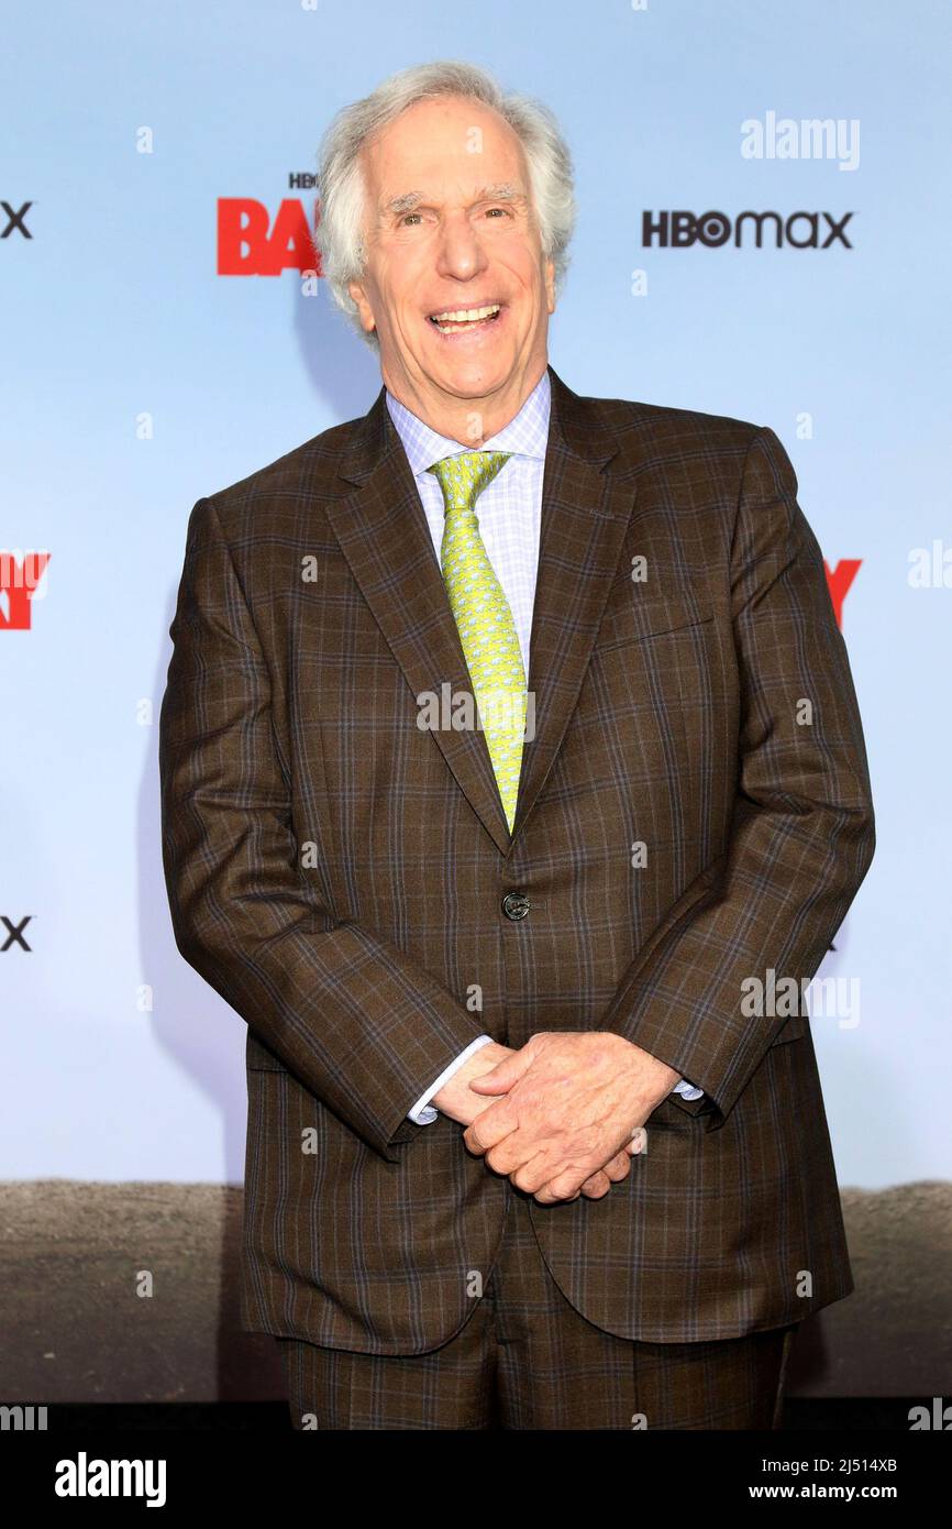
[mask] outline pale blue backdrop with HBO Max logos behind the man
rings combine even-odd
[[[176,951],[159,849],[185,526],[373,402],[316,145],[466,58],[573,150],[559,375],[793,459],[877,806],[813,995],[839,1177],[949,1180],[949,5],[50,0],[5,32],[0,1179],[241,1179],[244,1026]]]

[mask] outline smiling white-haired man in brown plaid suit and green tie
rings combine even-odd
[[[188,526],[165,868],[248,1021],[243,1323],[300,1428],[776,1427],[853,1289],[772,1001],[874,846],[822,555],[769,428],[549,365],[573,213],[481,70],[341,112],[384,385]]]

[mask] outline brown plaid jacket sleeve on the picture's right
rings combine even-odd
[[[862,723],[824,560],[772,430],[750,442],[730,550],[738,781],[726,853],[619,985],[616,1031],[704,1090],[723,1125],[785,1017],[744,1017],[741,983],[810,980],[876,844]],[[811,705],[805,720],[804,702]]]

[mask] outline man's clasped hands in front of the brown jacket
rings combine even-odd
[[[601,1200],[678,1076],[613,1031],[539,1031],[520,1050],[480,1047],[432,1104],[466,1127],[469,1151],[541,1205]]]

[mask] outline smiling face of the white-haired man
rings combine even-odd
[[[520,139],[477,101],[420,101],[364,151],[364,183],[367,268],[348,291],[387,387],[431,419],[480,401],[515,413],[555,312]]]

